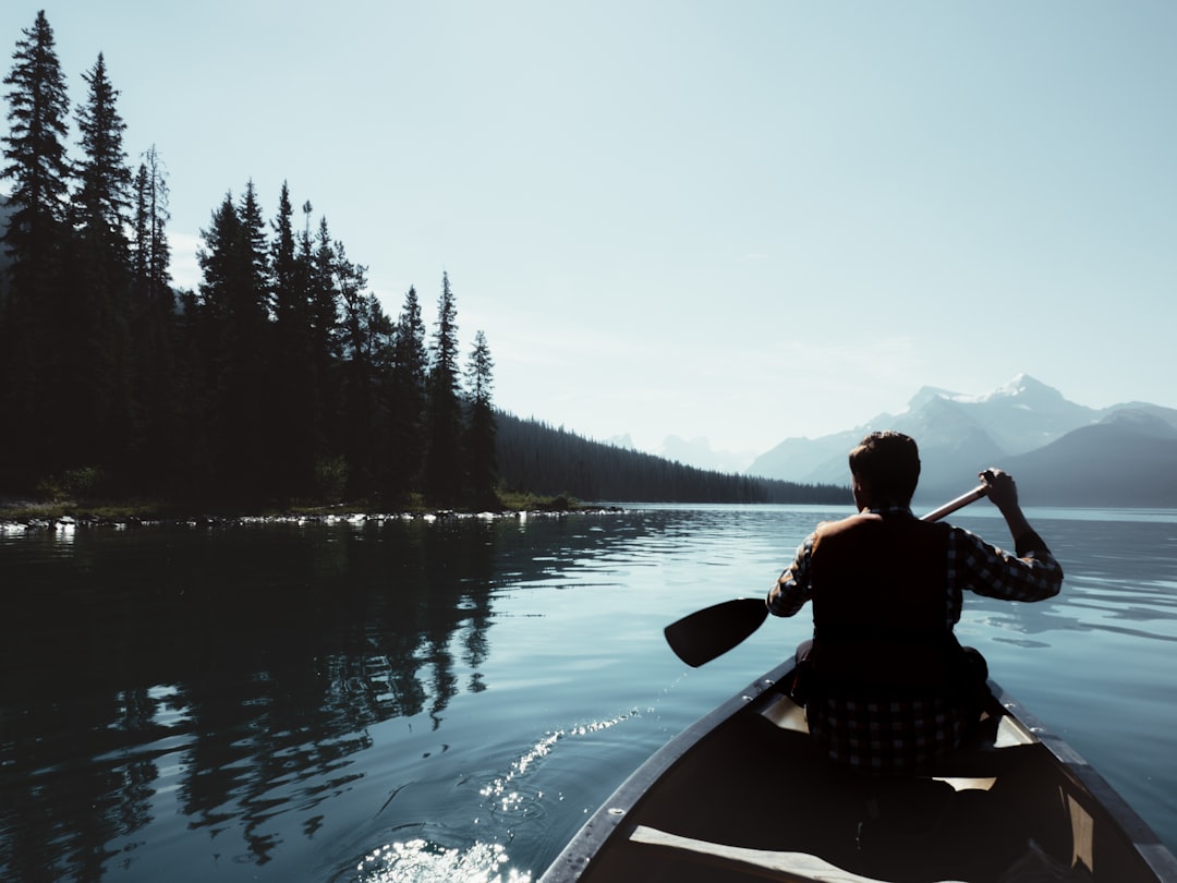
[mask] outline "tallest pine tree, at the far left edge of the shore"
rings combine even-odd
[[[0,433],[0,458],[35,474],[59,465],[48,445],[60,437],[64,420],[61,404],[53,400],[60,389],[49,389],[46,378],[61,374],[54,340],[66,313],[58,292],[68,235],[69,101],[44,11],[21,33],[13,68],[4,79],[9,125],[0,171],[0,178],[13,182],[13,211],[2,235],[12,265],[0,339],[0,409],[21,431]]]

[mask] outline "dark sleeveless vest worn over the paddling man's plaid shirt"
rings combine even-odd
[[[859,513],[818,526],[811,689],[903,699],[962,688],[947,612],[949,526]]]

